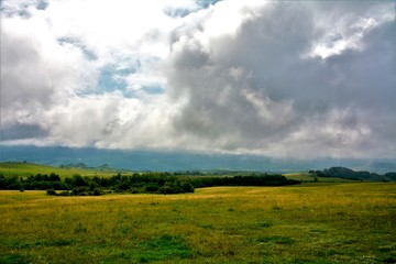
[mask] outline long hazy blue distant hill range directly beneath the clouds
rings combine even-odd
[[[140,172],[267,172],[294,173],[323,169],[332,166],[370,170],[378,174],[396,172],[396,160],[273,158],[261,155],[233,155],[153,150],[99,150],[94,147],[7,146],[0,145],[0,162],[29,162],[59,167],[95,167]],[[102,169],[106,169],[105,167]]]

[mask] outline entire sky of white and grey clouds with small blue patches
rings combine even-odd
[[[394,1],[3,0],[1,144],[396,157]]]

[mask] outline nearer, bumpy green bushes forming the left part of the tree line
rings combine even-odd
[[[51,178],[51,179],[50,179]],[[146,173],[112,177],[82,177],[74,175],[64,180],[50,176],[6,177],[0,175],[0,189],[36,189],[48,190],[48,195],[101,195],[105,190],[133,194],[182,194],[194,193],[191,180],[187,177],[173,176],[167,173]],[[67,190],[67,193],[56,193]]]

